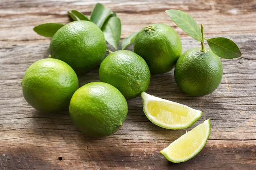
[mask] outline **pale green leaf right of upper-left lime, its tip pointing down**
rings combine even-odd
[[[102,32],[105,35],[106,41],[116,50],[121,38],[121,20],[118,17],[110,17],[102,26]]]

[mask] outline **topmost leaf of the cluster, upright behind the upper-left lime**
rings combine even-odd
[[[101,29],[104,22],[109,18],[111,14],[112,11],[110,9],[104,7],[100,3],[97,3],[92,9],[90,20]]]

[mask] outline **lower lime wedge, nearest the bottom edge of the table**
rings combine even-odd
[[[164,157],[173,163],[187,161],[197,155],[204,148],[211,131],[210,119],[199,124],[191,131],[173,141],[160,151]]]

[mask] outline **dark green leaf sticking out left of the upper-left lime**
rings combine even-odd
[[[35,26],[33,30],[44,37],[53,37],[53,35],[60,29],[63,24],[58,23],[45,23]]]

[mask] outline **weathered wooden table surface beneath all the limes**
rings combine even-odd
[[[70,22],[67,11],[90,15],[91,0],[1,0],[0,3],[0,170],[256,170],[256,1],[255,0],[101,0],[117,12],[121,38],[157,22],[172,26],[183,51],[200,46],[165,13],[180,9],[204,24],[206,38],[234,40],[243,55],[222,59],[223,78],[216,91],[204,97],[184,94],[173,71],[152,75],[147,92],[202,110],[202,117],[184,130],[152,124],[140,97],[128,101],[121,129],[104,138],[83,135],[67,110],[43,113],[22,96],[20,81],[33,62],[49,55],[49,38],[33,27],[46,22]],[[132,50],[132,46],[129,47]],[[79,77],[82,86],[99,81],[98,68]],[[184,163],[167,161],[159,150],[205,119],[211,135],[203,150]]]

